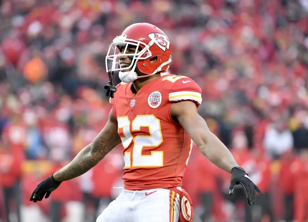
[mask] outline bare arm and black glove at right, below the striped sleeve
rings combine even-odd
[[[255,191],[262,195],[260,189],[248,177],[245,170],[238,166],[228,148],[209,130],[205,120],[198,114],[196,103],[193,101],[173,103],[170,111],[197,144],[202,154],[216,166],[232,173],[229,194],[233,194],[235,185],[240,184],[246,193],[248,204],[254,204]]]

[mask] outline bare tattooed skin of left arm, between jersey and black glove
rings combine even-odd
[[[67,166],[54,174],[54,179],[67,181],[79,177],[98,164],[120,142],[117,124],[108,121],[91,144],[84,147]]]

